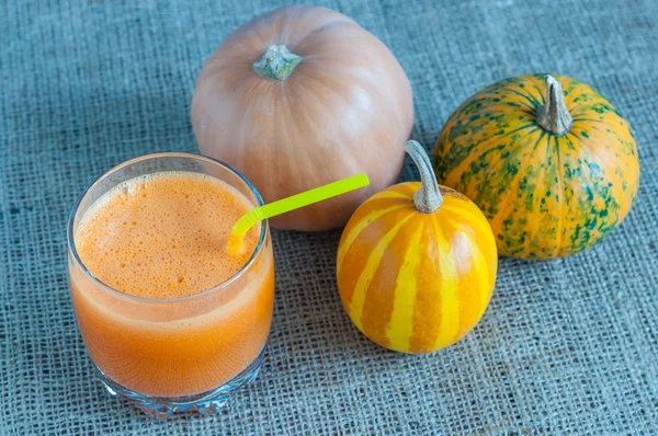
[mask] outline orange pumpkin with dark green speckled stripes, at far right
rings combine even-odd
[[[523,259],[590,248],[622,222],[639,182],[628,123],[560,76],[521,76],[468,99],[439,136],[434,170],[485,213],[500,254]]]

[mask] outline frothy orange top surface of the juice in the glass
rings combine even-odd
[[[260,225],[242,251],[228,234],[252,204],[218,179],[161,172],[128,180],[99,198],[75,234],[84,266],[114,289],[146,298],[180,298],[211,289],[253,253]]]

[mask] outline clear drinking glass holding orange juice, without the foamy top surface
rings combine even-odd
[[[76,231],[84,213],[114,186],[166,171],[207,174],[235,187],[254,207],[263,204],[249,180],[230,165],[196,154],[158,153],[112,169],[82,194],[72,210],[70,291],[88,354],[111,395],[126,398],[160,418],[174,412],[214,412],[231,392],[256,379],[274,298],[266,221],[259,225],[251,257],[232,277],[184,298],[127,295],[103,284],[84,266],[76,251]]]

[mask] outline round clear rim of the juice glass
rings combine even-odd
[[[78,251],[76,249],[76,243],[73,241],[73,222],[76,220],[76,216],[78,215],[78,209],[80,208],[80,204],[82,203],[82,200],[84,199],[84,197],[87,196],[87,194],[89,193],[89,191],[91,188],[93,188],[94,186],[97,186],[102,180],[109,177],[110,175],[112,175],[113,173],[115,173],[116,171],[118,171],[118,170],[121,170],[123,168],[126,168],[128,165],[141,162],[141,161],[145,161],[145,160],[160,159],[160,158],[184,158],[184,159],[192,159],[192,160],[197,160],[197,161],[205,161],[205,162],[214,164],[214,165],[224,167],[229,172],[231,172],[235,175],[237,175],[242,182],[245,182],[245,184],[247,185],[247,187],[249,188],[249,191],[251,192],[251,194],[256,198],[257,207],[260,207],[260,206],[264,205],[263,198],[261,197],[261,195],[258,192],[258,190],[256,188],[256,186],[253,186],[253,184],[251,183],[251,181],[249,179],[247,179],[247,176],[245,174],[242,174],[240,171],[238,171],[236,168],[234,168],[232,165],[229,165],[226,162],[223,162],[223,161],[217,160],[217,159],[208,158],[208,157],[203,156],[203,154],[186,153],[186,152],[159,152],[159,153],[152,153],[152,154],[144,154],[144,156],[140,156],[140,157],[127,160],[127,161],[125,161],[123,163],[120,163],[116,167],[113,167],[111,170],[104,172],[101,176],[99,176],[93,183],[91,183],[82,192],[82,194],[80,194],[80,196],[76,200],[76,203],[73,205],[73,209],[71,210],[71,214],[69,216],[68,226],[67,226],[67,245],[68,245],[69,253],[71,254],[75,263],[78,266],[80,266],[80,268],[82,269],[82,272],[84,273],[84,275],[87,275],[88,277],[90,277],[97,285],[99,285],[104,290],[107,290],[111,294],[114,294],[114,295],[116,295],[120,298],[124,298],[124,299],[127,299],[127,300],[133,300],[133,301],[136,301],[136,302],[149,302],[149,303],[173,303],[173,302],[181,302],[181,301],[191,301],[191,300],[194,300],[194,299],[197,299],[197,298],[203,298],[205,296],[208,296],[211,294],[215,294],[215,292],[217,292],[217,291],[219,291],[222,289],[227,288],[234,282],[236,282],[238,278],[240,278],[243,274],[246,274],[247,271],[249,271],[251,268],[251,266],[254,264],[257,257],[259,256],[260,252],[262,251],[264,242],[265,242],[265,238],[268,236],[269,222],[268,222],[266,219],[261,221],[261,231],[260,231],[260,236],[259,236],[259,239],[258,239],[258,244],[256,245],[256,249],[253,250],[253,253],[251,253],[251,256],[249,257],[249,260],[247,260],[247,262],[245,263],[245,265],[242,265],[240,267],[240,269],[238,269],[234,275],[231,275],[230,277],[228,277],[226,280],[222,282],[220,284],[218,284],[216,286],[213,286],[212,288],[205,289],[204,291],[201,291],[198,294],[193,294],[193,295],[190,295],[190,296],[177,297],[177,298],[148,298],[148,297],[134,296],[134,295],[131,295],[131,294],[123,292],[123,291],[121,291],[118,289],[115,289],[114,287],[112,287],[112,286],[103,283],[91,271],[89,271],[89,268],[87,267],[87,265],[84,265],[84,263],[80,259],[80,255],[78,254]],[[69,280],[70,280],[70,278],[69,278]]]

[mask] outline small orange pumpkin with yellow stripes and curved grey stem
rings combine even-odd
[[[496,283],[496,240],[464,195],[439,186],[423,148],[405,150],[421,183],[390,186],[348,222],[337,279],[348,315],[370,340],[421,354],[454,344],[480,319]]]

